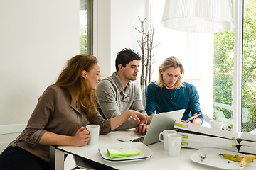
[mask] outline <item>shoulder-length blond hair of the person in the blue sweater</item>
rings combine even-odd
[[[181,79],[184,74],[184,68],[180,60],[178,60],[178,58],[174,56],[166,58],[164,62],[159,66],[159,81],[156,82],[157,86],[161,88],[164,86],[163,74],[161,74],[161,72],[165,72],[166,69],[169,69],[169,67],[181,69],[181,74],[178,77],[178,80],[176,81],[176,83],[174,84],[174,88],[180,88],[181,86],[183,86],[183,82],[181,81]]]

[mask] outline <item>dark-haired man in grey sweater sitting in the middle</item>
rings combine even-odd
[[[140,112],[150,123],[151,116],[144,111],[139,88],[131,82],[137,79],[139,60],[141,57],[134,50],[123,49],[115,60],[116,72],[97,84],[96,94],[103,117],[114,118],[124,112]],[[138,125],[136,120],[129,118],[117,130],[135,127],[135,132],[146,132],[149,125]]]

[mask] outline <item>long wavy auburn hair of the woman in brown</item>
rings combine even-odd
[[[85,111],[88,120],[95,114],[97,107],[97,96],[90,89],[87,81],[82,77],[82,71],[90,72],[97,64],[97,58],[92,55],[76,55],[68,60],[66,67],[60,73],[55,85],[68,90],[69,87],[78,91],[78,105]]]

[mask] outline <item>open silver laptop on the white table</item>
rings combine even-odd
[[[146,135],[134,134],[130,136],[119,137],[117,140],[122,142],[141,142],[139,139],[143,139],[145,145],[151,145],[159,142],[159,133],[163,130],[174,130],[175,120],[181,120],[185,109],[178,111],[170,111],[165,113],[159,113],[153,116],[149,129]]]

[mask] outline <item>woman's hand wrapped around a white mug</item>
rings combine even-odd
[[[87,143],[90,140],[90,133],[87,128],[81,127],[76,133],[75,136],[73,136],[73,144],[76,147],[80,147],[83,145],[87,145]]]

